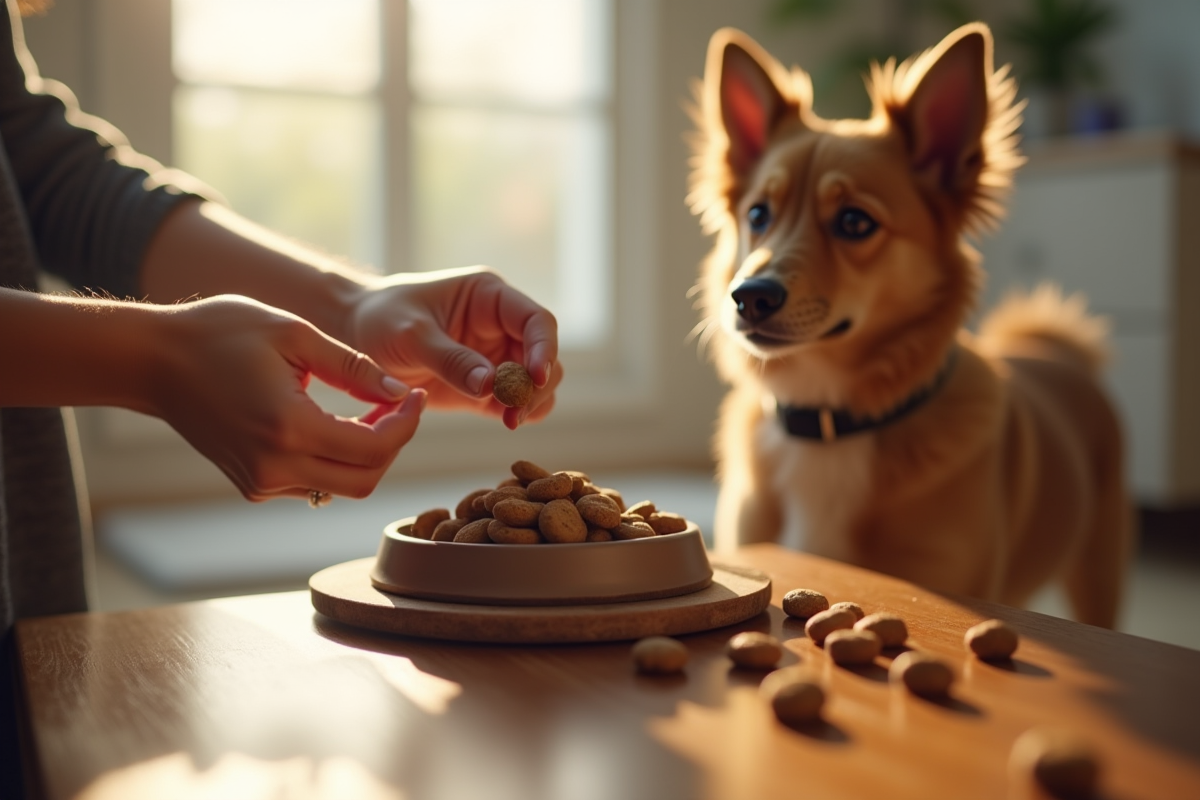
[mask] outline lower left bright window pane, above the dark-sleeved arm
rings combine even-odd
[[[229,88],[175,91],[175,160],[246,217],[382,266],[378,106]]]

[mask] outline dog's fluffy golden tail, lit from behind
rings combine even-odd
[[[1109,323],[1087,312],[1082,295],[1043,283],[1009,294],[979,324],[976,342],[986,355],[1049,356],[1098,375],[1109,360]]]

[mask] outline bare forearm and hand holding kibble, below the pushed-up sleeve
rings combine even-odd
[[[142,290],[154,302],[254,297],[366,353],[434,405],[503,416],[509,427],[548,414],[562,379],[553,315],[490,270],[370,275],[215,203],[168,215],[146,249]],[[528,407],[491,397],[502,361],[528,368],[538,387]]]

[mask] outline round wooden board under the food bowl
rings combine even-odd
[[[452,642],[619,642],[733,625],[770,604],[764,572],[713,563],[713,583],[690,595],[602,606],[481,606],[418,600],[371,585],[373,558],[308,579],[318,612],[347,625]]]

